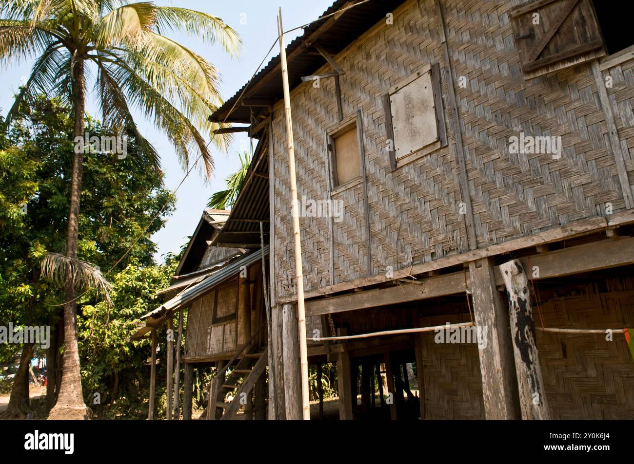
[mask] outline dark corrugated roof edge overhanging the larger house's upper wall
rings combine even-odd
[[[313,41],[316,41],[331,54],[337,54],[403,2],[404,0],[370,0],[347,9],[339,17],[331,16],[305,27],[304,34],[290,42],[286,47],[290,88],[293,89],[301,84],[302,76],[312,75],[326,63],[325,58],[320,54],[312,53],[309,43],[312,44]],[[349,1],[335,1],[321,16],[334,13],[343,8],[346,3]],[[327,22],[327,30],[318,32]],[[313,35],[314,37],[311,37]],[[243,91],[242,99],[248,97],[273,102],[282,99],[279,54],[275,58],[271,58],[271,61],[250,82],[243,85],[242,89],[218,108],[210,116],[210,120],[250,124],[251,108],[243,106],[238,101]]]

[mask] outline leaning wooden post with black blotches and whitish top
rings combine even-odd
[[[529,284],[519,260],[500,265],[507,287],[510,306],[510,330],[515,354],[515,371],[519,389],[519,404],[524,420],[548,420],[550,411],[541,377],[540,359],[535,344],[533,306]]]

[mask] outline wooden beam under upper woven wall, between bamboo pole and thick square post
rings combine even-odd
[[[456,272],[439,277],[420,280],[420,284],[403,284],[386,289],[373,289],[352,294],[334,296],[306,302],[306,314],[339,313],[385,306],[386,304],[406,303],[425,298],[451,295],[465,292],[465,274]]]

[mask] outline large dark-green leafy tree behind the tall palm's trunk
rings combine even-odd
[[[39,274],[42,259],[64,242],[67,179],[74,156],[70,116],[60,99],[39,97],[22,106],[10,130],[0,137],[0,325],[55,326],[60,317],[63,296]],[[100,135],[105,129],[88,117],[87,130]],[[163,188],[163,174],[153,159],[139,150],[134,134],[123,160],[113,154],[86,154],[84,179],[78,237],[82,262],[89,261],[104,273],[112,268],[112,275],[129,263],[155,265],[156,246],[148,237],[164,226],[174,198]],[[94,291],[87,291],[77,299],[80,321],[83,306],[94,304],[96,298]],[[55,362],[55,349],[53,337],[49,367]],[[5,356],[6,361],[15,351]],[[54,384],[55,371],[48,373],[49,385]],[[23,388],[12,394],[14,415],[26,412],[23,394]]]

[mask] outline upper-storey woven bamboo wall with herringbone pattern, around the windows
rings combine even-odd
[[[344,118],[361,109],[370,216],[372,270],[384,273],[410,263],[462,253],[469,247],[458,188],[457,156],[464,156],[474,212],[477,247],[623,210],[623,195],[607,143],[605,116],[598,103],[590,65],[524,80],[508,11],[511,2],[443,0],[448,46],[455,82],[460,132],[465,153],[456,152],[447,82],[443,78],[444,115],[449,146],[391,172],[384,146],[385,118],[381,96],[389,87],[429,63],[443,60],[435,2],[411,1],[394,11],[393,25],[380,23],[335,58],[346,71],[341,78]],[[623,82],[631,68],[619,67]],[[327,72],[325,66],[320,72]],[[621,72],[621,71],[615,71]],[[620,105],[619,132],[634,149],[631,86],[612,89]],[[294,294],[295,270],[285,151],[286,131],[281,103],[273,117],[275,213],[275,291]],[[337,122],[332,79],[292,91],[295,156],[299,199],[330,198],[325,130]],[[619,115],[620,116],[620,115]],[[510,154],[512,135],[560,135],[564,150],[552,154]],[[631,154],[628,170],[634,170]],[[634,173],[632,173],[634,175]],[[630,179],[633,179],[630,175]],[[364,277],[367,273],[363,186],[338,196],[344,220],[301,218],[304,279],[307,290]],[[334,246],[331,251],[332,240]],[[331,253],[333,262],[331,263]],[[331,275],[331,266],[334,275]]]

